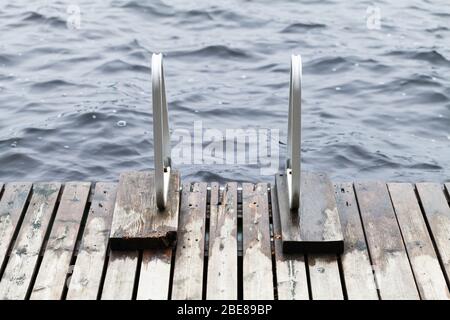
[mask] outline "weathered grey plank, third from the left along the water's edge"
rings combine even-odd
[[[31,300],[62,298],[90,189],[90,182],[65,184]]]

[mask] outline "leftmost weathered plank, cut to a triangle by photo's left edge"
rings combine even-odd
[[[1,190],[1,188],[0,188]],[[8,183],[0,201],[0,270],[25,210],[31,183]]]

